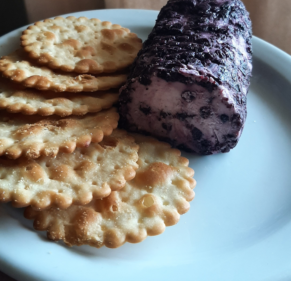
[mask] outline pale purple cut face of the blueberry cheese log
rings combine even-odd
[[[158,77],[152,77],[151,81],[150,86],[138,81],[132,83],[134,94],[127,104],[126,118],[129,124],[136,124],[138,131],[170,138],[176,146],[184,145],[194,151],[197,141],[203,139],[214,147],[217,141],[224,142],[225,135],[239,138],[242,128],[230,129],[237,112],[235,107],[229,108],[232,97],[223,86],[210,93],[196,83],[167,82]]]

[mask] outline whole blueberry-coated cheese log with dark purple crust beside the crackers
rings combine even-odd
[[[246,120],[251,33],[241,1],[168,1],[120,89],[120,127],[229,152]]]

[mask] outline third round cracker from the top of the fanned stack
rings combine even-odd
[[[10,113],[48,116],[84,115],[108,109],[118,102],[118,91],[97,91],[93,93],[55,93],[25,88],[0,78],[0,109]]]

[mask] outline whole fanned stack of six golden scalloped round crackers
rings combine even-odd
[[[178,222],[194,198],[180,151],[117,129],[113,107],[142,47],[86,17],[36,22],[0,60],[0,202],[68,246],[116,248]]]

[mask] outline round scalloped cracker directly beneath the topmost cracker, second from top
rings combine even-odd
[[[75,72],[52,71],[48,67],[40,66],[29,59],[23,49],[1,57],[0,72],[4,77],[25,87],[73,93],[120,88],[127,79],[125,73],[93,76],[89,74],[80,75]]]

